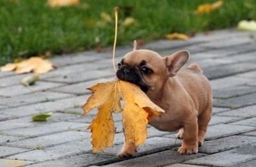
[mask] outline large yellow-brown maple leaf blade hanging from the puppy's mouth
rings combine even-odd
[[[93,92],[83,106],[84,114],[93,108],[99,113],[93,119],[92,131],[93,152],[113,145],[115,127],[112,112],[121,112],[120,98],[124,100],[123,127],[126,142],[140,145],[147,138],[147,123],[154,115],[160,116],[163,110],[155,105],[140,87],[124,82],[113,81],[98,83],[89,88]]]

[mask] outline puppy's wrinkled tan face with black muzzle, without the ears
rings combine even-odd
[[[150,50],[136,50],[125,55],[118,63],[116,76],[134,83],[147,92],[163,86],[166,66],[159,54]]]

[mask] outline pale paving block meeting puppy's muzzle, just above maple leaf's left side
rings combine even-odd
[[[110,78],[100,78],[99,80],[92,80],[89,82],[81,82],[81,83],[75,83],[72,85],[66,85],[63,87],[58,87],[56,89],[52,89],[52,91],[56,92],[65,92],[65,93],[72,93],[72,94],[90,94],[91,91],[87,90],[86,88],[92,87],[93,85],[99,83],[99,82],[108,82],[113,80],[113,77]]]

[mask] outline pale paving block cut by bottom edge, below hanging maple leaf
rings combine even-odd
[[[108,156],[102,154],[81,154],[79,156],[72,156],[65,159],[57,159],[54,161],[46,161],[44,163],[31,164],[29,167],[42,166],[60,166],[60,167],[78,167],[78,166],[92,166],[93,164],[110,163],[118,159],[117,156]]]

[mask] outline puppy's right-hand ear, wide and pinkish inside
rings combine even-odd
[[[172,55],[164,57],[168,75],[170,77],[175,76],[179,69],[188,61],[188,57],[189,52],[186,50],[181,50],[179,52],[175,52]]]

